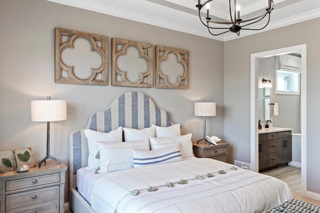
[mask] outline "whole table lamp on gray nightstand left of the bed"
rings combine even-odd
[[[31,100],[31,120],[46,121],[46,156],[39,161],[38,167],[48,158],[57,161],[60,160],[50,156],[50,121],[58,121],[66,119],[66,100]]]

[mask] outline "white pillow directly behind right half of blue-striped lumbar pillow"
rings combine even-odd
[[[182,158],[192,157],[192,141],[191,141],[191,133],[181,135],[181,136],[173,136],[173,137],[150,137],[150,149],[156,150],[159,148],[164,148],[172,143],[178,143],[181,151]]]

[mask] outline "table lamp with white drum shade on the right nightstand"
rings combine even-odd
[[[207,139],[205,139],[205,117],[215,116],[215,102],[195,102],[194,115],[203,116],[203,138],[196,141],[196,143],[198,143],[201,140],[204,140],[210,144],[210,142]]]

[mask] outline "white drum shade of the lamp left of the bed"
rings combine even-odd
[[[32,121],[66,119],[66,100],[31,100]]]

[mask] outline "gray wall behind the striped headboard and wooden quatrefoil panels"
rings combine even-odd
[[[70,28],[189,50],[189,89],[137,88],[54,83],[54,27]],[[192,140],[202,137],[195,101],[215,101],[207,134],[223,136],[223,42],[134,22],[45,0],[0,1],[0,150],[30,146],[45,156],[46,123],[30,120],[30,100],[66,99],[67,120],[50,123],[50,154],[68,165],[68,136],[84,127],[90,113],[121,93],[145,92],[181,123]],[[109,40],[110,44],[111,40]],[[109,61],[111,45],[109,45]],[[67,200],[67,185],[65,199]]]

